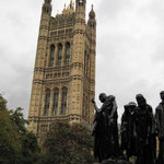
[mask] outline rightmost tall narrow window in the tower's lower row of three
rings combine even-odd
[[[67,112],[67,94],[68,94],[68,89],[62,87],[61,114],[66,114]]]

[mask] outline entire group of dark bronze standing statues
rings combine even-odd
[[[130,102],[125,105],[120,134],[118,134],[115,96],[101,93],[99,101],[103,103],[101,108],[92,99],[95,107],[92,132],[94,156],[99,163],[128,164],[129,159],[136,156],[136,164],[164,164],[164,91],[160,95],[162,102],[155,109],[155,116],[142,94],[136,96],[137,103]],[[156,138],[159,153],[156,153]]]

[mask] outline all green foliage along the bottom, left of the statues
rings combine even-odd
[[[8,110],[0,94],[0,164],[91,164],[93,138],[81,125],[56,122],[40,154],[37,138],[26,130],[21,107]]]

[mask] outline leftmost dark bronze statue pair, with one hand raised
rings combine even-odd
[[[120,156],[121,151],[118,143],[118,115],[115,97],[101,93],[99,101],[103,103],[101,108],[98,108],[95,101],[92,99],[96,110],[93,136],[94,156],[98,159],[98,162],[102,162],[109,157],[117,159]]]

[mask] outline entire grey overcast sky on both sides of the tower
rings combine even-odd
[[[52,15],[70,0],[52,0]],[[114,94],[119,114],[142,93],[153,108],[164,90],[164,0],[86,0],[97,21],[96,101]],[[0,1],[0,93],[27,117],[44,0]]]

